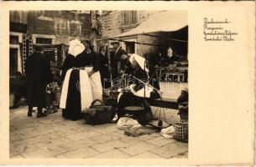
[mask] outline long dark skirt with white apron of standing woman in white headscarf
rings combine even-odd
[[[81,119],[81,110],[88,109],[94,99],[102,100],[102,83],[99,72],[91,77],[91,68],[71,68],[65,74],[60,96],[60,108],[65,119]]]

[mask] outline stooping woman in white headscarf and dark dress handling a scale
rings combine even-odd
[[[128,88],[118,95],[118,118],[126,114],[123,110],[125,107],[144,104],[144,98],[150,98],[150,94],[153,91],[153,89],[149,87],[149,69],[145,67],[145,58],[137,54],[132,54],[129,58],[129,62],[132,68],[130,69],[131,79],[129,79]]]

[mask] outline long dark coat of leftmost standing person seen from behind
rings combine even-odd
[[[46,85],[52,80],[50,62],[44,54],[35,52],[25,63],[27,74],[27,104],[30,107],[45,107]]]

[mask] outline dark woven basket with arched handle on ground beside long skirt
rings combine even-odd
[[[96,105],[99,102],[99,105]],[[115,109],[112,106],[105,106],[102,100],[96,99],[91,103],[89,109],[81,111],[86,124],[107,124],[109,123],[115,114]]]

